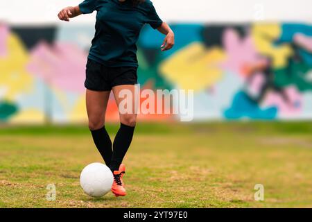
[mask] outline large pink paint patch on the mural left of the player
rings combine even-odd
[[[84,92],[87,54],[73,44],[40,42],[31,51],[28,71],[66,92]]]

